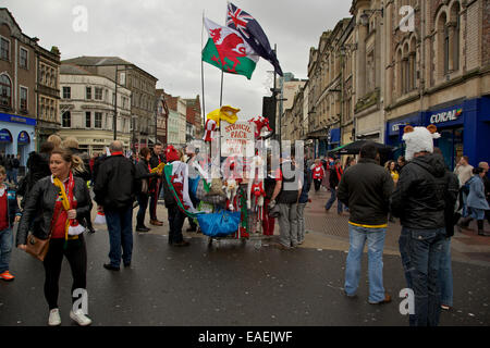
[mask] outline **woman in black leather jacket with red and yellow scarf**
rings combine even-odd
[[[70,150],[59,148],[51,152],[52,175],[38,181],[28,194],[17,228],[16,245],[22,250],[26,249],[27,234],[33,221],[35,223],[32,233],[40,239],[49,239],[48,253],[44,260],[44,288],[49,306],[50,326],[61,324],[58,294],[63,257],[68,259],[72,271],[72,303],[78,298],[75,289],[86,289],[87,251],[84,229],[72,229],[72,226],[77,225],[78,216],[84,216],[91,209],[87,185],[73,175],[73,170],[81,164],[82,160]],[[81,309],[72,308],[70,318],[81,326],[91,323]]]

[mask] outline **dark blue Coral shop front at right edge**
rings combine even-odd
[[[490,97],[434,107],[425,113],[425,126],[433,124],[441,138],[434,141],[446,165],[454,170],[462,156],[474,166],[490,160]]]

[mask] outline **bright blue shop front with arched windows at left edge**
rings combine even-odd
[[[35,150],[36,120],[0,113],[0,152],[21,154],[21,166],[25,166],[28,154]]]

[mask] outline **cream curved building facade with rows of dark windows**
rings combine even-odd
[[[125,151],[131,150],[131,90],[115,86],[106,76],[74,64],[61,65],[61,129],[62,138],[75,137],[79,149],[93,156],[103,153],[114,139],[114,112],[117,108],[117,139]]]

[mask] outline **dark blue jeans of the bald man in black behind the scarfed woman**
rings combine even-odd
[[[133,206],[105,210],[105,213],[109,229],[109,259],[111,265],[119,268],[121,258],[124,263],[130,263],[133,254]]]

